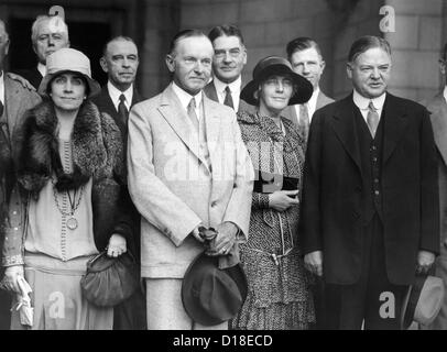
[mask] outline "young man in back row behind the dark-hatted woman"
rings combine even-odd
[[[334,101],[319,88],[319,80],[326,63],[317,42],[309,37],[301,36],[288,42],[286,52],[293,70],[307,78],[314,87],[314,94],[309,101],[304,105],[291,106],[284,110],[284,117],[298,128],[303,139],[307,141],[314,112]]]

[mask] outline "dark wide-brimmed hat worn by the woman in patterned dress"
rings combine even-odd
[[[296,91],[288,100],[290,106],[304,103],[310,99],[314,91],[312,84],[295,74],[291,63],[280,56],[268,56],[257,64],[253,69],[253,79],[243,87],[240,98],[251,106],[257,106],[258,99],[254,97],[254,92],[258,91],[259,85],[271,75],[287,75],[293,79]]]

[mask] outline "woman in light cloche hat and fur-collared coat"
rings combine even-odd
[[[88,99],[98,90],[83,53],[55,52],[39,88],[46,99],[28,112],[15,136],[25,201],[10,207],[3,265],[9,290],[20,293],[20,275],[33,290],[32,329],[112,328],[112,308],[89,304],[79,284],[89,258],[106,248],[121,255],[131,235],[120,221],[122,141],[113,120]],[[15,310],[11,328],[25,328]]]

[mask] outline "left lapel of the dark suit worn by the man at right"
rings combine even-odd
[[[350,95],[342,100],[342,105],[337,111],[335,111],[331,119],[331,124],[346,152],[352,158],[361,173],[360,148],[355,121],[355,109],[357,109],[357,107],[352,101],[352,95]]]

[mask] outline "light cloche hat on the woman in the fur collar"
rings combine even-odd
[[[47,96],[48,85],[53,78],[65,73],[79,74],[85,78],[89,88],[89,98],[100,92],[101,87],[91,78],[90,61],[88,57],[79,51],[64,47],[46,57],[46,75],[39,86],[39,94]]]

